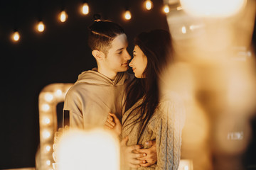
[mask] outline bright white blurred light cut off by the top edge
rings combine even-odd
[[[181,6],[191,16],[228,17],[238,13],[246,0],[181,0]]]

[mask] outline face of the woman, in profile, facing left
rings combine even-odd
[[[134,47],[133,56],[129,66],[132,67],[135,77],[144,78],[142,74],[146,69],[147,58],[138,45],[135,45]]]

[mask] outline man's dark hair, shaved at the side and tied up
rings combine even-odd
[[[107,55],[112,40],[123,33],[124,29],[117,23],[96,20],[89,27],[88,45],[91,50],[100,50]]]

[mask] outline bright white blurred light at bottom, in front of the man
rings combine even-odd
[[[58,170],[119,169],[119,142],[104,130],[70,130],[56,146]]]

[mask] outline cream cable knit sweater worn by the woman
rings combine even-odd
[[[132,106],[122,118],[122,123],[133,108],[142,103],[142,99]],[[136,114],[134,111],[132,114]],[[122,125],[122,137],[129,137],[128,146],[137,145],[139,124],[129,125],[136,118],[131,116]],[[181,157],[181,130],[185,122],[185,108],[181,99],[174,93],[170,93],[161,99],[156,112],[149,121],[139,144],[144,145],[146,141],[156,140],[157,164],[141,169],[178,169]],[[144,145],[144,147],[146,147]],[[131,169],[122,167],[122,169]]]

